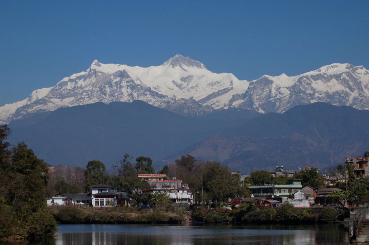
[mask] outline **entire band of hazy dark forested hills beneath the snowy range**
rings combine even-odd
[[[156,169],[184,154],[232,170],[276,165],[322,168],[361,156],[369,147],[369,111],[324,103],[282,114],[230,109],[185,117],[142,101],[59,109],[10,124],[9,140],[27,142],[50,165],[112,166],[125,153],[148,156]]]

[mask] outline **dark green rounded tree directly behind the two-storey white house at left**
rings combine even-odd
[[[107,179],[105,177],[105,165],[101,161],[89,161],[85,169],[85,189],[90,190],[90,186],[104,183]]]

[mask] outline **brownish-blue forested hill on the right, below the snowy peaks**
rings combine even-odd
[[[222,161],[231,169],[320,169],[362,156],[369,148],[369,111],[315,103],[283,114],[267,113],[212,136],[184,152]]]

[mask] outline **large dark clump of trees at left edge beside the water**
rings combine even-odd
[[[9,132],[0,126],[0,238],[52,235],[56,222],[44,209],[48,168],[24,142],[9,149]]]

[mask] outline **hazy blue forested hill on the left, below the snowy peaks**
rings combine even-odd
[[[14,121],[9,140],[23,140],[48,164],[86,166],[101,160],[112,166],[125,153],[158,162],[211,135],[242,125],[259,113],[242,109],[185,117],[142,101],[59,109]],[[167,163],[160,161],[159,165]]]

